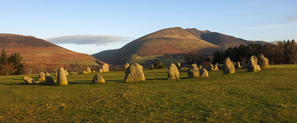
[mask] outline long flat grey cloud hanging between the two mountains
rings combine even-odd
[[[113,45],[114,43],[130,42],[129,37],[112,35],[64,35],[43,38],[53,44],[77,44],[77,45]]]

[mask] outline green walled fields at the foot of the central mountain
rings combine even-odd
[[[133,64],[138,63],[142,65],[144,68],[149,68],[151,64],[150,61],[154,59],[158,59],[160,56],[164,55],[152,55],[152,56],[138,56],[138,55],[132,55],[129,59],[127,59],[127,63]],[[180,58],[165,58],[161,59],[165,67],[169,67],[171,63],[176,64],[177,62],[185,62],[183,57]]]

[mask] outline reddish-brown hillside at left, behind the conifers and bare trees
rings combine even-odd
[[[76,61],[88,61],[90,65],[97,65],[97,59],[93,56],[70,51],[33,36],[0,34],[0,48],[4,48],[7,55],[19,52],[26,62],[46,59],[48,63],[75,64]]]

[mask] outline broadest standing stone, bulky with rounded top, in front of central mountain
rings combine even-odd
[[[145,80],[142,66],[137,63],[127,67],[125,74],[124,82],[138,82]]]

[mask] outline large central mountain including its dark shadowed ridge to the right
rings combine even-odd
[[[197,51],[201,55],[212,56],[214,51],[225,50],[229,46],[249,43],[266,44],[264,41],[248,41],[208,30],[173,27],[162,29],[140,37],[120,49],[102,51],[91,56],[109,64],[127,63],[128,59],[138,60],[138,56],[159,54],[181,54]],[[148,57],[150,58],[150,57]],[[135,61],[134,60],[134,61]],[[131,61],[131,60],[129,60]]]

